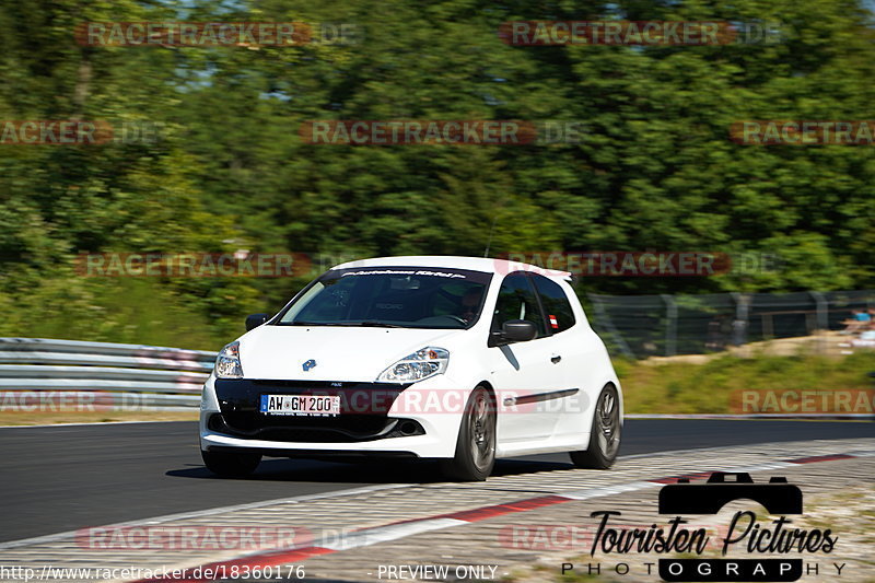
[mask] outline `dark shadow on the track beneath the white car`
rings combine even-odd
[[[571,464],[552,460],[499,459],[493,477],[537,474],[570,469]],[[205,466],[168,470],[166,476],[189,479],[219,478]],[[265,459],[247,481],[332,482],[332,483],[436,483],[445,482],[440,464],[433,460],[372,460],[369,463],[336,463],[312,459]]]

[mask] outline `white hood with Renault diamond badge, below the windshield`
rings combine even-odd
[[[464,330],[259,326],[241,337],[245,378],[370,383],[390,364],[424,348],[446,346]],[[304,370],[313,360],[314,366]]]

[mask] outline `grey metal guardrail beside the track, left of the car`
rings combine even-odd
[[[192,408],[214,352],[47,338],[0,338],[0,410]]]

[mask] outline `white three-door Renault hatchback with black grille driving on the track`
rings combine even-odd
[[[203,462],[245,476],[262,456],[406,456],[485,480],[497,457],[570,452],[608,468],[622,393],[569,279],[474,257],[335,267],[222,349]]]

